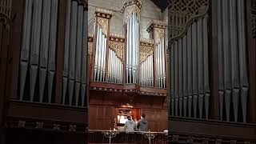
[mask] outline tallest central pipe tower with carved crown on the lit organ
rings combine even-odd
[[[140,1],[125,2],[122,13],[125,14],[126,26],[126,83],[138,84],[138,65],[140,57],[139,20],[142,3]]]

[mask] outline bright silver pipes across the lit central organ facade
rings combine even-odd
[[[110,16],[104,18],[102,15]],[[157,45],[152,46],[153,54],[148,54],[147,58],[141,61],[141,42],[143,38],[140,38],[140,14],[138,11],[134,10],[128,18],[125,18],[123,25],[126,31],[125,36],[113,34],[116,36],[114,38],[124,38],[124,41],[119,42],[119,44],[115,42],[115,46],[110,46],[110,42],[112,42],[110,40],[110,37],[112,37],[110,34],[111,17],[111,11],[103,9],[97,9],[94,15],[94,38],[96,39],[92,47],[92,51],[94,51],[92,80],[94,82],[126,83],[166,88],[165,37],[163,36],[161,42],[158,42]],[[151,23],[153,25],[153,21]],[[164,30],[164,22],[162,22],[162,26]],[[148,42],[154,43],[154,39],[148,39]]]

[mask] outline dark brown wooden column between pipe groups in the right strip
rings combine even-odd
[[[210,78],[210,118],[219,119],[218,97],[218,24],[217,1],[210,1],[209,10],[209,78]]]

